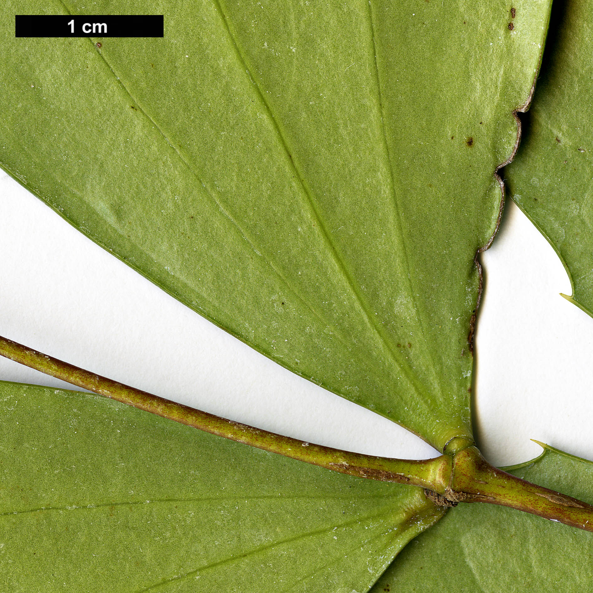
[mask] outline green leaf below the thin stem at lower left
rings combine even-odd
[[[362,592],[442,515],[105,397],[0,382],[0,402],[6,591]]]

